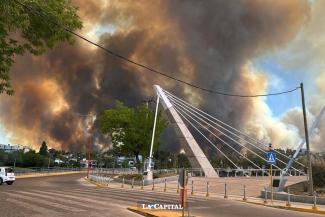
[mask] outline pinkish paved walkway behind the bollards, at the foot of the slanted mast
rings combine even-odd
[[[305,177],[289,177],[289,184],[303,181]],[[194,191],[191,194],[191,185],[192,180],[194,183]],[[209,192],[206,194],[206,182],[209,181]],[[264,186],[267,186],[269,179],[267,177],[261,177],[259,179],[253,178],[219,178],[219,179],[204,179],[204,178],[191,178],[189,179],[189,185],[187,190],[188,198],[200,198],[200,199],[221,199],[224,198],[224,184],[227,183],[227,198],[235,201],[242,201],[246,203],[282,208],[282,209],[292,209],[301,212],[315,212],[320,214],[325,214],[325,205],[317,205],[317,210],[313,209],[312,204],[291,202],[290,207],[287,206],[286,201],[279,200],[267,200],[267,203],[264,203],[264,199],[258,198],[260,196],[260,190]],[[243,185],[246,185],[246,201],[243,200]],[[106,186],[106,184],[105,184]],[[110,188],[122,189],[122,184],[117,182],[111,182],[108,184]],[[177,195],[177,182],[167,182],[166,188],[165,183],[160,183],[153,186],[133,186],[132,185],[123,185],[123,189],[133,189],[143,192],[164,192],[165,194]],[[236,189],[237,188],[237,189]]]

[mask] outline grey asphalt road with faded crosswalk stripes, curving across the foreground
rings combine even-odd
[[[126,207],[137,202],[178,203],[176,194],[133,189],[98,188],[82,174],[18,179],[0,186],[1,217],[139,216]],[[190,198],[191,214],[213,217],[316,217],[322,215],[250,205],[226,199]]]

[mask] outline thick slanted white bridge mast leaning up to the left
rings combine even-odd
[[[181,143],[191,163],[191,166],[193,168],[201,168],[206,177],[218,177],[215,169],[212,167],[202,149],[193,138],[191,132],[184,124],[182,118],[178,115],[175,108],[170,103],[162,88],[159,85],[154,85],[154,89],[158,97],[161,99],[164,109],[168,110],[168,115],[172,117],[170,118],[170,121],[173,121],[172,124],[175,125],[177,134],[182,139]],[[159,103],[158,100],[157,103]],[[152,158],[152,156],[149,157],[150,159]]]

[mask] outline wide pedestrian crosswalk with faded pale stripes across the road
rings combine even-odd
[[[6,194],[5,203],[16,207],[17,210],[20,210],[20,213],[23,213],[24,210],[33,213],[28,215],[32,217],[138,216],[129,212],[126,208],[136,206],[137,203],[141,202],[179,203],[177,194],[80,186],[65,189],[32,188],[9,190],[4,194]]]

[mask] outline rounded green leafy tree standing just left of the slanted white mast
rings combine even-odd
[[[141,168],[139,155],[149,156],[154,115],[145,104],[130,108],[117,101],[115,109],[105,110],[100,117],[101,131],[110,135],[114,151],[124,156],[135,156],[138,170]],[[165,127],[166,122],[159,112],[154,151],[159,149],[160,134]]]

